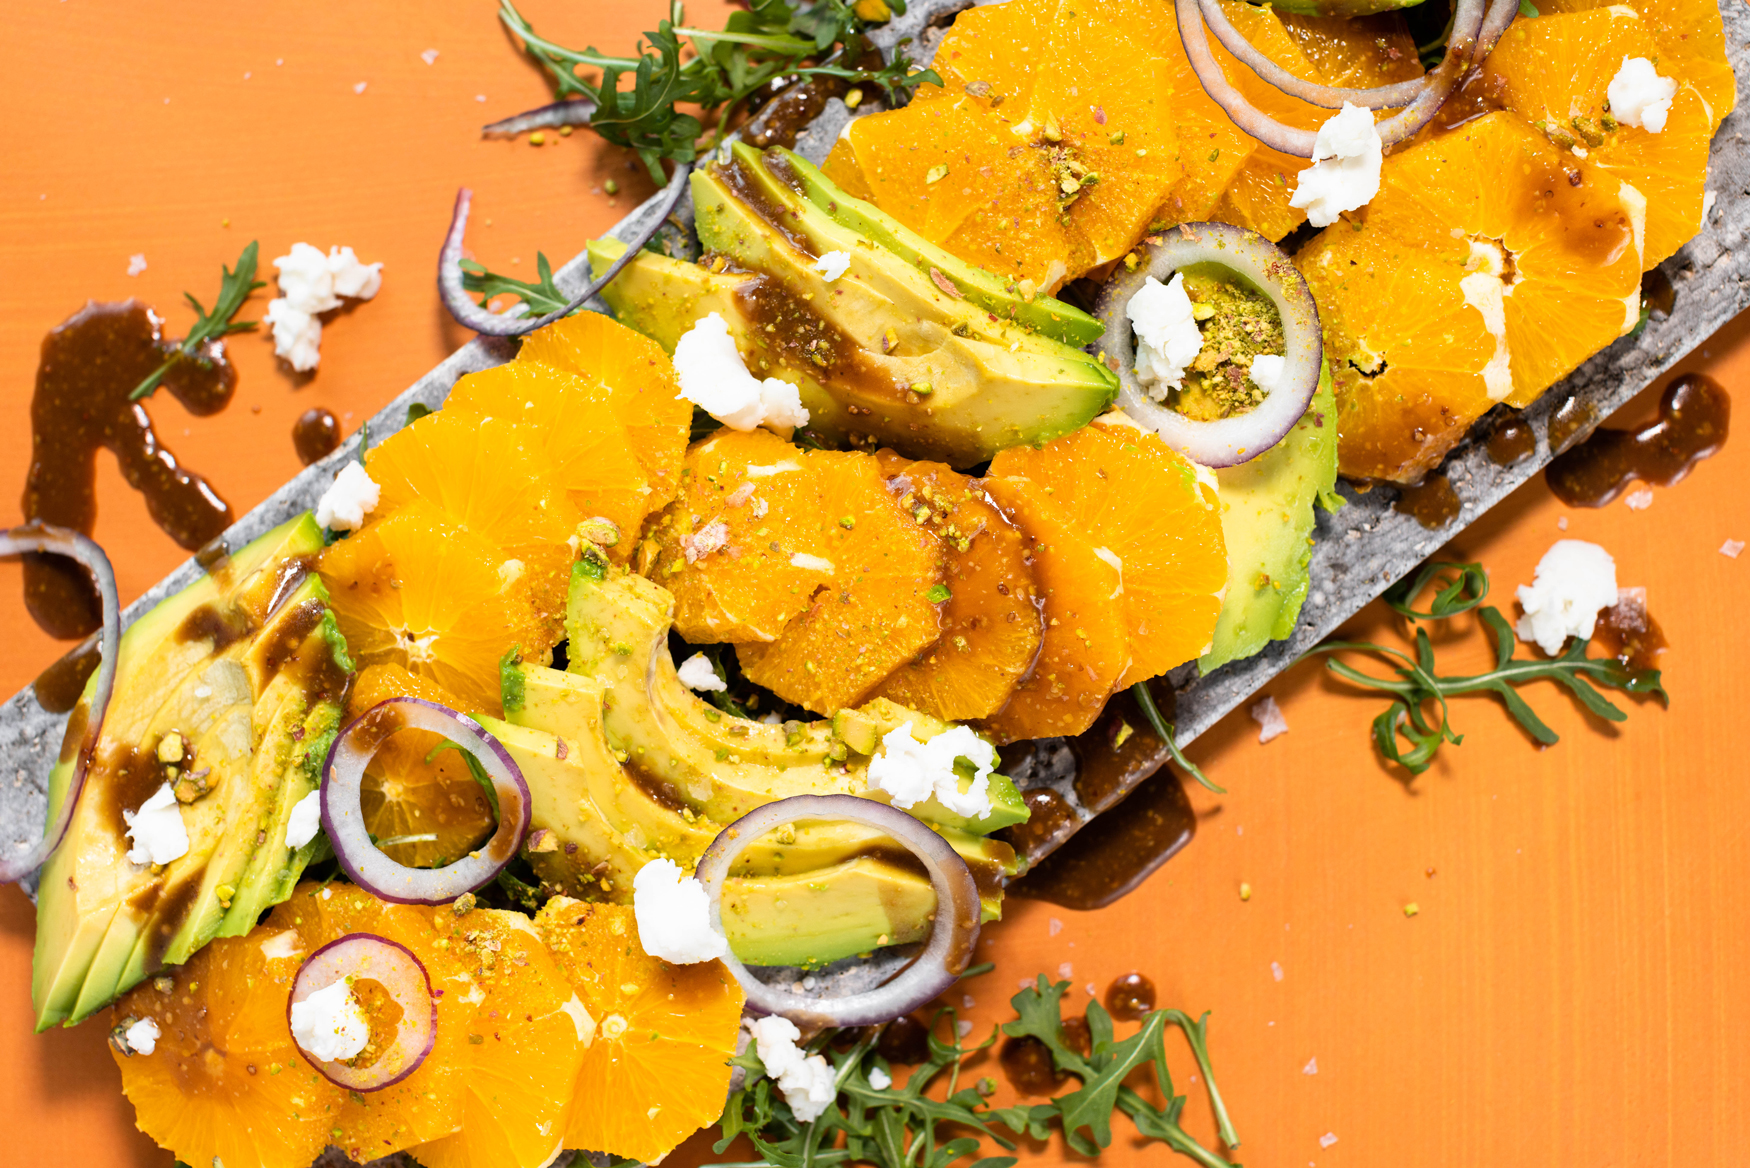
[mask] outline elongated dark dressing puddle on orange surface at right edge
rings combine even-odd
[[[1726,445],[1731,413],[1724,385],[1687,373],[1666,387],[1657,422],[1634,431],[1600,429],[1558,455],[1544,476],[1568,506],[1605,506],[1634,480],[1670,487]]]

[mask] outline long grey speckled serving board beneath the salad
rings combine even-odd
[[[882,28],[875,40],[884,51],[891,51],[903,40],[914,60],[928,60],[954,14],[966,7],[970,7],[966,0],[914,0],[910,11]],[[1750,81],[1750,7],[1726,0],[1720,11],[1726,21],[1727,54],[1738,72],[1738,110],[1726,119],[1713,142],[1708,189],[1715,193],[1715,200],[1701,235],[1662,264],[1676,287],[1676,305],[1671,315],[1656,317],[1640,336],[1619,340],[1592,355],[1561,385],[1550,389],[1526,410],[1524,419],[1538,440],[1533,457],[1510,468],[1500,468],[1489,462],[1480,441],[1472,440],[1454,450],[1442,469],[1463,506],[1458,518],[1446,527],[1426,531],[1416,520],[1393,511],[1391,503],[1396,499],[1396,492],[1391,489],[1358,494],[1342,485],[1348,506],[1334,515],[1323,511],[1318,515],[1318,538],[1311,564],[1312,583],[1293,636],[1274,643],[1256,657],[1225,665],[1209,676],[1197,676],[1195,665],[1181,667],[1172,674],[1181,742],[1188,742],[1214,725],[1218,718],[1269,683],[1306,650],[1330,636],[1337,625],[1379,595],[1391,581],[1407,574],[1428,553],[1540,473],[1554,454],[1549,445],[1549,419],[1559,405],[1570,398],[1577,399],[1589,408],[1591,424],[1596,426],[1596,420],[1628,403],[1715,329],[1750,306],[1750,252],[1743,247],[1745,229],[1750,228],[1750,145],[1746,145],[1743,133],[1750,124],[1750,93],[1746,93],[1746,81]],[[872,107],[878,109],[873,103],[864,103],[859,112],[868,112]],[[850,110],[842,102],[830,102],[828,109],[802,131],[796,149],[814,161],[824,159],[850,117]],[[758,128],[754,123],[751,130],[758,131]],[[634,210],[609,235],[630,238],[656,214],[654,201],[653,198]],[[682,254],[696,249],[696,242],[691,238],[691,210],[688,207],[682,205],[682,210],[670,217],[665,233],[672,252]],[[434,233],[434,256],[439,242]],[[588,261],[583,256],[572,259],[558,273],[558,284],[565,289],[583,287],[586,280]],[[606,310],[602,305],[593,306]],[[502,364],[514,352],[514,341],[494,338],[469,341],[385,405],[369,420],[369,433],[382,440],[401,429],[406,424],[410,405],[424,403],[436,408],[443,405],[457,378]],[[359,434],[362,433],[362,429],[355,433],[340,450],[306,468],[261,506],[233,524],[224,536],[226,543],[238,548],[276,524],[315,506],[338,468],[357,457]],[[1586,433],[1589,429],[1582,429],[1570,443],[1578,441]],[[200,573],[194,560],[184,562],[130,604],[122,613],[122,622],[133,622],[158,601],[192,583]],[[66,716],[46,711],[37,704],[30,688],[14,693],[0,706],[0,848],[23,851],[42,834],[46,781],[60,749],[65,723]],[[1059,751],[1059,756],[1064,755],[1068,751]],[[1062,765],[1031,767],[1022,776],[1024,786],[1054,786],[1076,813],[1073,823],[1032,849],[1036,860],[1060,846],[1092,818],[1076,797],[1073,777],[1073,767]],[[1141,777],[1136,776],[1136,781]],[[844,975],[847,981],[873,979],[886,965],[877,958],[856,972],[845,970]]]

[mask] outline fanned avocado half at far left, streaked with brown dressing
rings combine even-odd
[[[322,634],[326,601],[308,574],[320,548],[322,532],[308,515],[290,520],[122,634],[86,793],[44,865],[32,974],[38,1030],[89,1016],[164,960],[186,960],[220,928],[254,926],[254,914],[229,916],[217,891],[245,893],[250,872],[266,870],[257,865],[268,851],[257,846],[261,814],[248,813],[275,806],[289,790],[261,762],[299,753],[280,741],[294,727],[308,735],[338,718],[332,646]],[[290,690],[312,681],[312,669],[332,697],[306,699],[299,690],[299,707],[310,707],[301,713],[310,716],[276,718]],[[206,793],[178,804],[189,853],[154,874],[128,862],[121,811],[138,807],[166,781],[156,749],[170,730],[194,748],[184,772],[205,767]],[[70,776],[70,762],[51,774],[51,814]]]

